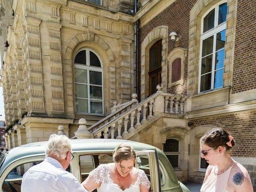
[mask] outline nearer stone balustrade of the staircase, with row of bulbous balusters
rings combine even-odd
[[[102,138],[103,132],[104,138],[122,139],[159,113],[184,114],[186,96],[164,93],[160,85],[157,89],[158,91],[152,96],[93,130],[94,138]],[[130,124],[129,128],[128,124]]]

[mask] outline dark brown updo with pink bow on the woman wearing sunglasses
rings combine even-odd
[[[228,131],[222,128],[214,128],[206,132],[206,134],[200,138],[200,143],[206,144],[214,149],[218,148],[218,146],[223,146],[226,148],[226,151],[229,151],[235,146],[233,137]]]

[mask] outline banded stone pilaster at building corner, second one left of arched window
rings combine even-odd
[[[29,116],[46,116],[41,55],[41,20],[26,16],[25,35],[22,38],[24,62],[24,90]]]

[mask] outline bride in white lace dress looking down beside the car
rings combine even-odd
[[[127,144],[113,152],[114,163],[101,164],[82,182],[88,192],[148,192],[150,181],[145,172],[135,167],[136,154]]]

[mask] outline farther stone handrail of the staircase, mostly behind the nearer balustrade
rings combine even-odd
[[[132,108],[132,106],[134,106],[137,103],[138,103],[137,94],[132,94],[132,100],[128,101],[128,102],[126,102],[124,104],[120,104],[120,105],[117,106],[117,105],[115,105],[115,102],[114,102],[114,106],[111,108],[111,114],[109,114],[108,116],[104,117],[103,119],[98,121],[96,124],[93,124],[92,126],[90,126],[88,128],[88,130],[94,131],[94,130],[98,129],[99,127],[101,127],[102,125],[104,125],[108,121],[110,121],[111,119],[115,118],[116,116],[119,116],[124,111]],[[116,102],[116,104],[117,104],[117,102]]]

